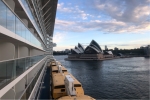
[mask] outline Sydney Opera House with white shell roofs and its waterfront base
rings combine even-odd
[[[78,43],[78,46],[71,49],[71,54],[68,55],[66,60],[104,60],[106,58],[113,58],[112,52],[103,52],[99,44],[92,40],[86,48]]]

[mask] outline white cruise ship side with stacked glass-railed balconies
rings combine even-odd
[[[58,0],[0,0],[0,99],[34,99],[53,58]]]

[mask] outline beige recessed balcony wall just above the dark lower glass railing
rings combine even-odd
[[[0,61],[43,55],[45,52],[10,42],[0,41]]]

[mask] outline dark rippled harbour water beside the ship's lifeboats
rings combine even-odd
[[[150,59],[144,57],[106,61],[65,61],[55,56],[96,99],[149,99]]]

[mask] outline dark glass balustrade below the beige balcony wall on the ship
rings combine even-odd
[[[46,55],[0,62],[0,89],[42,60],[44,57],[46,57]]]

